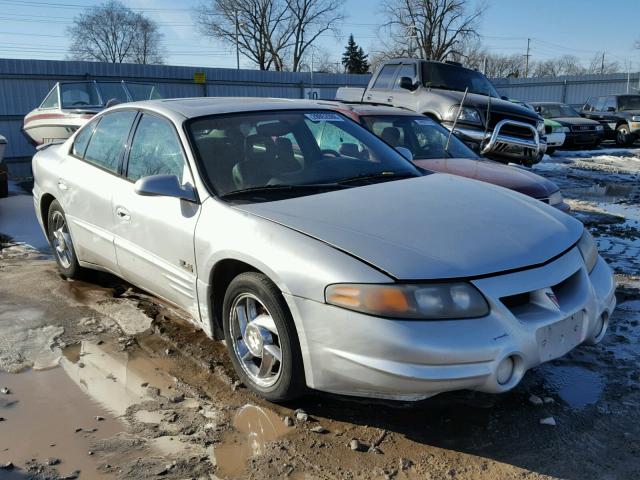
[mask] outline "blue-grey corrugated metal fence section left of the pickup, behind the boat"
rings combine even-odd
[[[194,73],[204,72],[206,84]],[[13,176],[29,175],[35,151],[20,131],[23,117],[36,108],[53,85],[63,80],[135,80],[160,85],[163,96],[241,96],[303,98],[311,88],[332,99],[341,86],[366,86],[369,75],[308,72],[261,72],[222,68],[133,65],[54,60],[0,59],[0,134],[7,138],[5,157]],[[12,161],[13,160],[13,161]]]

